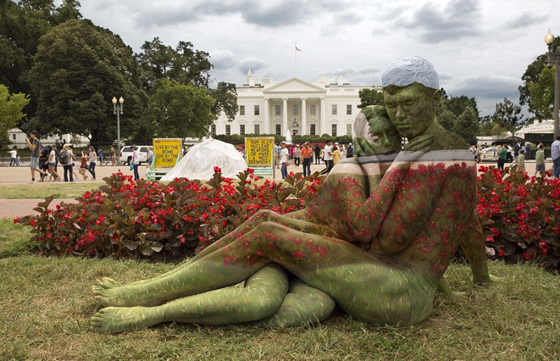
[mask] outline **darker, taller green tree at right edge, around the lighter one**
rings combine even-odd
[[[560,51],[560,36],[556,36],[554,38],[552,51]],[[541,73],[543,69],[546,69],[546,64],[546,53],[539,55],[535,61],[527,66],[525,73],[521,76],[523,85],[519,86],[519,104],[521,106],[528,106],[529,112],[533,113],[539,120],[548,119],[550,117],[547,117],[542,113],[543,110],[546,110],[546,107],[542,107],[542,99],[534,99],[533,96],[540,97],[540,94],[549,94],[550,92],[554,94],[554,78],[552,78],[552,82],[547,81],[546,83],[543,79],[541,79]],[[540,87],[542,88],[542,90],[540,90],[540,94],[531,94],[530,85],[539,82],[541,83]],[[537,101],[536,103],[535,100]]]

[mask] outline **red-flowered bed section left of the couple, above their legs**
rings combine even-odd
[[[38,215],[14,222],[33,227],[31,240],[44,255],[172,260],[193,255],[260,209],[304,208],[321,186],[317,174],[307,183],[290,174],[285,183],[258,185],[251,169],[239,174],[237,184],[218,167],[214,171],[206,183],[181,178],[167,185],[134,182],[119,172],[76,198],[78,204],[51,210],[49,197],[34,208]]]

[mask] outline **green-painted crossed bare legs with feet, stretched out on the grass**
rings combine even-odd
[[[121,332],[170,320],[221,325],[272,316],[279,309],[278,299],[286,296],[287,283],[271,276],[274,282],[255,283],[260,291],[253,291],[249,278],[270,262],[326,292],[342,309],[366,322],[396,324],[409,319],[407,283],[398,269],[350,243],[262,222],[173,274],[139,285],[94,285],[97,301],[118,307],[96,313],[92,325],[101,332]],[[221,289],[246,279],[245,293]],[[269,296],[267,285],[281,292]],[[231,297],[239,297],[239,302],[232,303]],[[251,311],[255,305],[258,311]],[[247,317],[230,314],[244,311]]]

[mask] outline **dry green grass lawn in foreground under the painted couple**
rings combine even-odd
[[[171,264],[38,257],[25,251],[26,227],[1,220],[0,234],[0,360],[560,359],[560,278],[529,265],[490,262],[505,281],[476,286],[468,267],[453,264],[449,283],[468,299],[437,294],[430,318],[408,327],[367,325],[335,311],[321,325],[284,330],[165,324],[110,335],[89,331],[99,309],[92,282],[155,276]]]

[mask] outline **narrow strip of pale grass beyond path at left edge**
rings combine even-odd
[[[0,198],[3,199],[44,199],[50,195],[55,198],[75,198],[87,190],[92,190],[104,185],[104,182],[84,183],[36,183],[2,185],[0,187]]]

